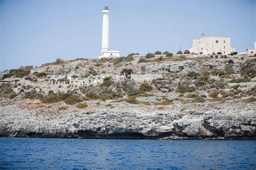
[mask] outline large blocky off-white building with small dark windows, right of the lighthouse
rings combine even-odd
[[[192,41],[190,53],[203,53],[207,55],[213,52],[215,54],[221,52],[226,55],[235,52],[235,48],[231,47],[230,37],[205,37],[204,34],[201,34],[200,39]]]

